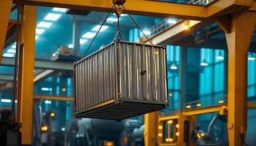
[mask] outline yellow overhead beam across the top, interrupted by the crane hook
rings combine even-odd
[[[246,0],[243,2],[243,4],[241,4],[239,0],[221,0],[212,2],[207,6],[202,6],[152,0],[129,0],[124,4],[124,6],[129,13],[133,15],[207,20],[208,18],[212,19],[216,16],[247,10],[249,7],[252,7],[251,1],[253,0]],[[16,4],[65,7],[68,9],[98,12],[108,12],[113,5],[112,1],[102,0],[14,0],[14,2]],[[243,7],[241,7],[241,5],[243,5]]]

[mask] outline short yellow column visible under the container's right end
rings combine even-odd
[[[157,140],[158,111],[145,114],[145,146],[155,146]]]

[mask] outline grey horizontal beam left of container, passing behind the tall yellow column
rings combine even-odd
[[[15,59],[2,57],[3,66],[14,66]],[[35,68],[73,71],[73,63],[63,61],[35,60]]]

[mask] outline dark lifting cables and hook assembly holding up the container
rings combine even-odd
[[[115,4],[113,5],[113,7],[111,8],[110,12],[108,12],[107,17],[104,19],[103,23],[101,24],[101,27],[104,25],[105,21],[107,20],[108,16],[109,16],[110,13],[112,12],[113,8],[115,8],[115,14],[116,14],[116,16],[117,16],[117,18],[118,18],[118,30],[117,30],[116,35],[115,35],[114,38],[116,38],[116,36],[119,34],[121,40],[123,40],[123,38],[122,38],[122,36],[121,36],[121,33],[120,33],[120,29],[119,29],[119,20],[120,20],[119,17],[120,17],[120,15],[121,15],[123,9],[120,8],[120,4],[118,4],[118,5],[119,5],[119,6],[118,6],[117,8],[116,8]],[[122,7],[124,8],[124,10],[126,10],[126,8],[124,7],[123,3],[122,3],[121,5],[122,5]],[[149,43],[152,44],[152,42],[149,40],[149,38],[148,38],[148,37],[145,35],[145,33],[141,30],[140,26],[138,26],[138,24],[137,24],[137,23],[135,22],[135,20],[132,18],[132,16],[130,15],[130,13],[129,13],[127,10],[126,10],[126,12],[127,12],[127,14],[130,16],[130,18],[132,19],[132,21],[136,24],[136,26],[138,27],[138,29],[140,29],[140,31],[143,33],[143,35],[147,38],[147,40],[149,41]],[[91,41],[90,45],[88,46],[87,50],[85,51],[85,54],[82,55],[82,58],[84,58],[85,55],[87,54],[88,50],[89,50],[90,47],[91,47],[91,44],[93,44],[93,41],[95,40],[96,36],[98,35],[99,31],[101,30],[101,27],[99,27],[98,32],[96,33],[96,35],[94,36],[94,38],[93,38],[93,40]]]

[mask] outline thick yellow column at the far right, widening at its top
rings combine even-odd
[[[252,12],[232,15],[230,33],[226,33],[229,48],[228,67],[228,132],[229,145],[244,145],[247,128],[247,51],[256,24]]]

